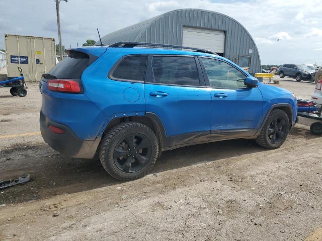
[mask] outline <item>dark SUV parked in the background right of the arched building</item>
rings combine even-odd
[[[283,64],[279,68],[279,76],[280,78],[284,78],[285,76],[295,78],[296,81],[301,80],[310,80],[312,81],[312,74],[314,70],[309,68],[304,64]]]

